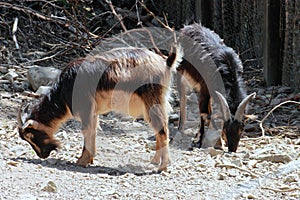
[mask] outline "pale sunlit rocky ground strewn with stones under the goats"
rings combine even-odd
[[[34,98],[25,87],[26,72],[19,68],[1,72],[0,199],[300,198],[298,105],[275,110],[264,123],[266,137],[258,137],[258,122],[250,121],[237,153],[212,148],[188,151],[198,116],[195,96],[190,94],[185,134],[176,134],[178,107],[172,114],[172,165],[160,174],[149,162],[155,141],[147,124],[115,113],[99,116],[98,154],[93,165],[82,168],[74,164],[83,143],[78,122],[68,121],[59,130],[56,136],[62,147],[45,160],[18,136],[17,110]],[[258,120],[284,100],[299,101],[287,87],[260,87],[257,92],[250,112]]]

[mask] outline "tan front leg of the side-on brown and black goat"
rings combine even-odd
[[[87,167],[89,164],[93,164],[93,160],[96,154],[96,130],[98,116],[91,112],[90,116],[86,119],[82,119],[82,133],[84,137],[84,146],[80,158],[77,160],[77,164]]]

